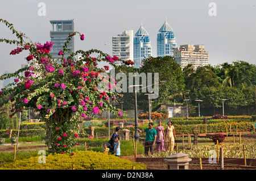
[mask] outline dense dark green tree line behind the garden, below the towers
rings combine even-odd
[[[161,103],[183,103],[189,99],[189,116],[198,115],[198,102],[200,99],[200,112],[204,116],[222,114],[222,99],[225,100],[225,113],[227,115],[253,115],[255,114],[255,85],[256,66],[245,61],[233,61],[232,64],[224,62],[215,66],[200,66],[197,69],[189,64],[181,69],[174,57],[148,57],[143,60],[140,69],[122,65],[123,73],[159,73],[159,96],[152,99],[151,108],[155,111]],[[127,76],[128,77],[128,76]],[[148,92],[147,92],[148,93]],[[139,110],[148,111],[148,96],[145,92],[137,93]],[[119,102],[123,102],[123,110],[134,109],[134,93],[123,93]],[[121,108],[121,104],[119,106]]]

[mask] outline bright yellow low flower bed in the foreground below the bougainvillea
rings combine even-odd
[[[46,156],[46,163],[42,162],[42,156],[16,160],[12,163],[4,163],[0,170],[145,170],[143,163],[131,162],[127,159],[104,155],[96,151],[76,151],[71,154],[50,154]],[[40,159],[40,161],[39,161]]]

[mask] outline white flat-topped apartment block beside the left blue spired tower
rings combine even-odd
[[[133,61],[133,30],[125,30],[121,35],[112,36],[113,56],[121,60]],[[122,61],[116,61],[115,65],[123,65]]]

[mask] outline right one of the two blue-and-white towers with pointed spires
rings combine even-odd
[[[157,37],[157,56],[174,56],[174,49],[177,48],[174,30],[167,23],[167,19],[160,28]]]

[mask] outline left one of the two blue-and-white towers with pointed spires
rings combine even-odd
[[[137,33],[135,33],[133,40],[134,51],[134,68],[141,68],[144,58],[152,56],[152,47],[150,37],[147,31],[143,28],[142,24]]]

